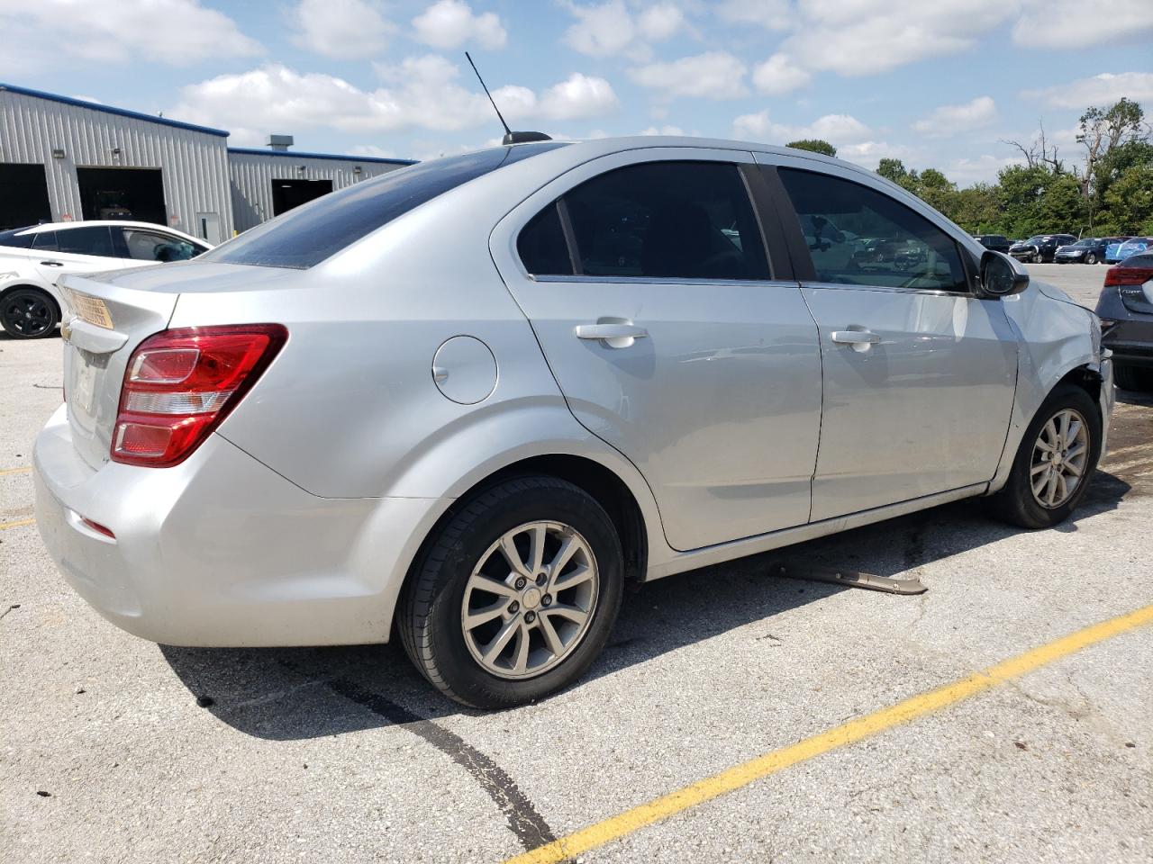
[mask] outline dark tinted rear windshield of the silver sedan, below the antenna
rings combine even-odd
[[[519,144],[410,165],[296,207],[201,260],[307,270],[450,189],[559,146]]]

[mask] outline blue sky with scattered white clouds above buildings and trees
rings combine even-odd
[[[0,0],[0,82],[295,150],[429,159],[557,138],[817,137],[967,185],[1043,122],[1153,114],[1153,0]]]

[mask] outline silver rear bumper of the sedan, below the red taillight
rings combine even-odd
[[[35,448],[36,517],[104,617],[172,645],[386,642],[436,499],[323,499],[219,435],[167,469],[90,468],[61,407]],[[107,526],[108,538],[83,518]]]

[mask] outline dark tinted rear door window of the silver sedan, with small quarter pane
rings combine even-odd
[[[542,272],[533,270],[540,262],[552,267],[545,273],[572,273],[572,262],[590,276],[770,278],[760,227],[736,165],[631,165],[571,190],[560,207],[574,249],[565,248],[571,256],[560,256],[559,219],[542,211],[518,242],[529,272]]]

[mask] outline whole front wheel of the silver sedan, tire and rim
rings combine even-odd
[[[1077,508],[1101,450],[1101,416],[1080,387],[1058,385],[1025,431],[994,515],[1020,528],[1052,528]]]

